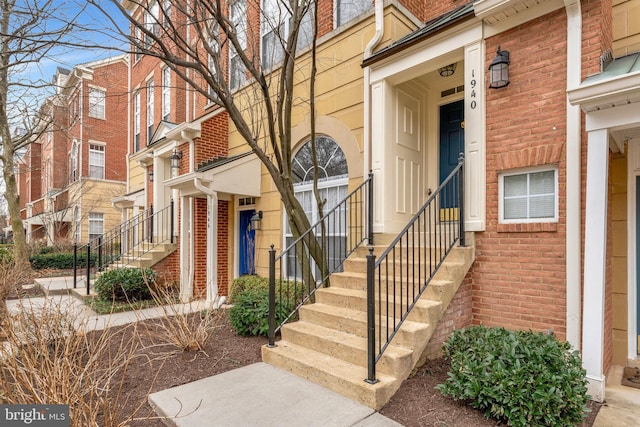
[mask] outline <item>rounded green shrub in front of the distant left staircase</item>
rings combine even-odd
[[[156,273],[150,268],[118,268],[105,271],[94,284],[102,301],[133,302],[151,299]]]

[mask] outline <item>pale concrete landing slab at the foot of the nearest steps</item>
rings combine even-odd
[[[149,395],[168,425],[401,426],[371,408],[266,363]]]

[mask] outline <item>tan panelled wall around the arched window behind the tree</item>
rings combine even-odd
[[[385,10],[385,33],[380,46],[388,45],[415,29],[414,24],[394,7]],[[323,37],[317,51],[316,122],[317,134],[333,138],[345,152],[349,167],[349,190],[362,183],[364,172],[364,72],[361,67],[363,52],[375,33],[374,17],[359,22],[340,32]],[[309,55],[298,60],[292,113],[292,145],[294,151],[309,136]],[[275,77],[275,76],[272,76]],[[247,95],[248,94],[248,95]],[[236,96],[236,100],[251,99],[251,92]],[[247,146],[230,124],[229,154],[247,151]],[[262,229],[256,233],[256,272],[267,275],[268,251],[273,243],[276,251],[283,244],[283,209],[280,194],[263,167],[262,196],[257,199],[256,210],[264,213]],[[235,216],[234,216],[235,217]]]

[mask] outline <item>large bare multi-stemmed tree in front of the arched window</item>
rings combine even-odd
[[[294,239],[308,230],[311,224],[293,186],[291,130],[294,109],[304,109],[314,118],[315,54],[301,61],[298,53],[308,48],[315,53],[317,3],[109,1],[129,20],[132,31],[122,36],[137,54],[160,59],[196,92],[228,112],[280,193]],[[102,8],[100,3],[92,0]],[[129,14],[125,3],[138,13]],[[260,25],[250,25],[252,17]],[[300,76],[307,80],[306,93],[295,85]],[[311,141],[314,132],[312,126]],[[320,197],[317,203],[321,209]],[[309,246],[309,254],[324,270],[320,242],[310,239]]]

